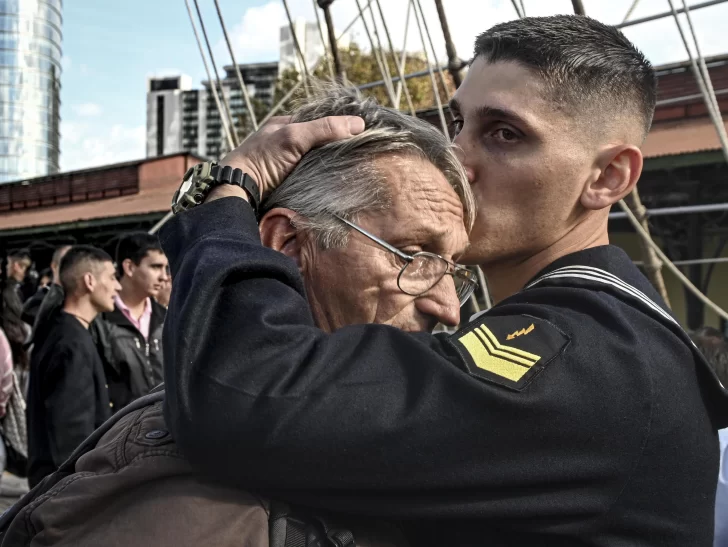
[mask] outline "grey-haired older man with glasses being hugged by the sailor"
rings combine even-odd
[[[305,318],[326,332],[358,323],[411,332],[429,331],[438,322],[456,325],[460,305],[475,287],[472,274],[453,262],[468,244],[474,200],[452,145],[432,126],[341,88],[309,100],[295,118],[344,113],[363,118],[367,129],[304,157],[263,203],[256,228],[260,240],[300,272],[310,306]],[[209,175],[210,166],[202,167]],[[207,210],[213,208],[199,213]],[[188,290],[189,280],[175,280],[175,294]],[[213,298],[206,305],[217,309],[228,303]],[[245,320],[236,324],[244,336]],[[200,324],[203,335],[215,328]],[[195,344],[194,337],[186,343]],[[169,344],[165,349],[178,351]],[[289,381],[295,380],[280,378],[281,387]],[[329,394],[316,398],[317,404],[327,404]],[[255,412],[248,415],[251,421],[259,418]],[[318,440],[311,433],[300,431],[300,439],[315,446]],[[227,458],[224,445],[216,450]],[[325,446],[316,450],[326,457]],[[244,460],[239,464],[246,465]],[[2,538],[3,547],[29,540],[28,518],[34,523],[30,535],[42,535],[56,546],[112,540],[119,546],[233,547],[269,541],[288,546],[296,531],[324,533],[320,513],[287,518],[287,508],[202,477],[177,450],[161,403],[124,415],[78,461],[75,472],[48,485],[49,501],[24,509]],[[269,519],[275,522],[270,534]],[[343,528],[327,526],[332,541],[345,541],[353,531],[359,546],[403,544],[386,525],[343,522]]]

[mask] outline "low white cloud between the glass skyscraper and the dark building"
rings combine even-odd
[[[146,129],[89,122],[61,122],[61,171],[120,163],[144,157]]]

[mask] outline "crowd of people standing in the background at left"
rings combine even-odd
[[[59,246],[37,290],[24,298],[31,266],[26,250],[8,256],[0,449],[10,452],[2,469],[7,462],[33,487],[117,409],[162,382],[171,279],[159,240],[143,232],[122,236],[114,258],[90,245]]]

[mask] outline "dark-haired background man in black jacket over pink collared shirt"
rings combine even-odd
[[[121,291],[114,309],[93,326],[114,408],[146,395],[163,381],[162,327],[166,308],[156,301],[169,280],[167,257],[156,236],[127,234],[116,249]]]

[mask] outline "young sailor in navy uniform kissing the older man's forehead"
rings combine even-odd
[[[608,245],[654,105],[649,62],[592,19],[478,38],[453,110],[480,208],[466,255],[499,303],[450,338],[325,332],[293,263],[258,242],[257,192],[355,119],[249,138],[224,163],[258,187],[215,188],[162,234],[183,288],[165,333],[182,451],[228,483],[400,518],[416,545],[710,545],[728,395]],[[448,210],[428,189],[411,207]]]

